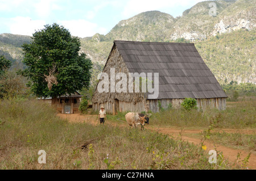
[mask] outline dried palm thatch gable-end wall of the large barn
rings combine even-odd
[[[117,73],[125,73],[129,75],[129,70],[123,61],[122,56],[120,55],[116,46],[112,48],[112,52],[109,55],[108,62],[105,65],[103,73],[107,73],[109,75],[109,87],[110,87],[110,69],[115,69],[115,74]],[[115,81],[115,84],[118,81]],[[127,90],[128,90],[127,86]],[[101,106],[105,107],[106,112],[108,113],[116,113],[117,111],[144,111],[144,103],[146,99],[144,98],[143,93],[137,92],[98,92],[97,86],[94,91],[92,103],[93,103],[93,111],[100,110]]]

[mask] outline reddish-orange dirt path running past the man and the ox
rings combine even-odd
[[[71,123],[90,123],[93,125],[98,125],[100,124],[98,119],[97,119],[97,115],[80,115],[80,114],[57,114],[57,116],[63,118],[63,119],[67,119],[69,122]],[[111,124],[111,125],[115,125],[115,126],[127,126],[125,124],[125,122],[123,122],[123,124],[114,124],[114,123],[108,123],[108,121],[106,121],[105,124]],[[192,137],[188,137],[188,136],[184,136],[184,134],[187,133],[200,133],[202,132],[204,129],[184,129],[181,132],[180,128],[156,128],[156,127],[151,127],[150,125],[146,125],[145,126],[146,129],[151,129],[153,131],[158,131],[159,133],[163,133],[163,134],[168,134],[169,136],[175,137],[175,138],[180,138],[180,133],[181,133],[181,139],[184,141],[188,141],[191,142],[192,144],[195,145],[201,145],[201,140],[198,138],[192,138]],[[236,130],[236,129],[217,129],[216,131],[225,131],[228,133],[245,133],[245,134],[255,134],[254,131],[247,131],[247,130]],[[229,159],[230,162],[235,162],[237,160],[237,154],[241,153],[241,160],[243,160],[248,154],[248,151],[244,151],[244,150],[240,150],[240,149],[233,149],[233,148],[229,148],[228,146],[223,146],[220,144],[214,144],[213,142],[210,141],[205,141],[204,144],[207,146],[207,151],[214,149],[214,147],[216,147],[216,149],[218,151],[222,151],[223,155],[224,155],[224,159]],[[251,153],[250,155],[250,159],[249,162],[247,163],[247,167],[249,167],[249,169],[256,169],[256,155],[254,153]]]

